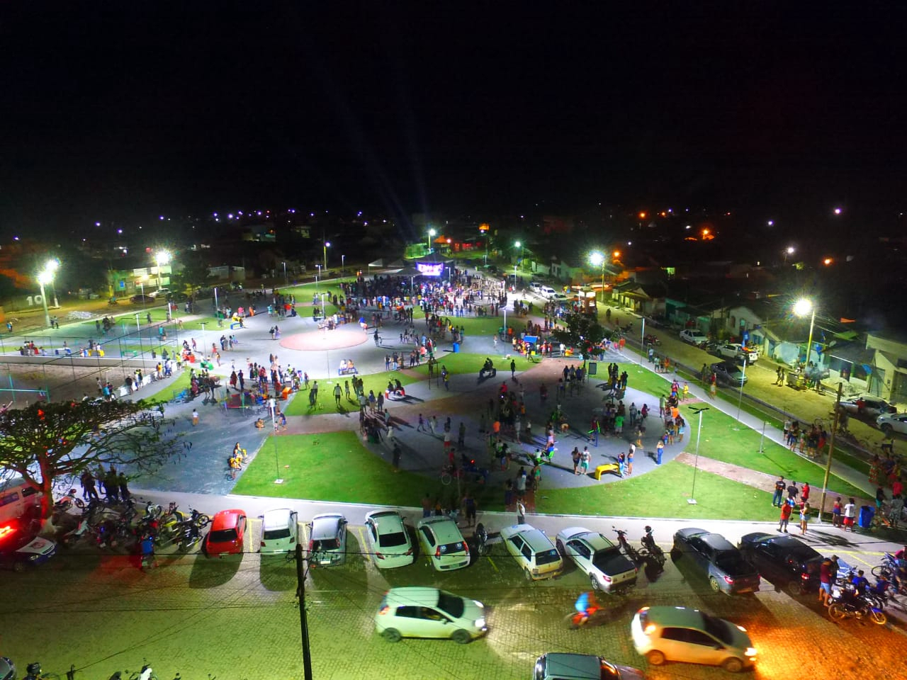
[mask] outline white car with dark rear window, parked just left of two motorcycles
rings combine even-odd
[[[600,533],[582,527],[563,529],[558,532],[557,548],[589,577],[596,590],[611,592],[636,585],[636,567]]]

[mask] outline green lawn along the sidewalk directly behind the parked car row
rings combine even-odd
[[[275,440],[277,452],[275,452]],[[283,484],[275,484],[277,477]],[[679,517],[689,519],[775,520],[771,493],[698,471],[697,505],[687,499],[693,469],[670,462],[634,479],[580,489],[538,492],[536,510],[545,513]],[[473,489],[480,508],[504,510],[503,490]],[[395,473],[390,453],[369,452],[356,432],[269,437],[243,472],[234,493],[250,496],[336,500],[418,507],[425,493],[453,501],[456,485],[411,472]]]

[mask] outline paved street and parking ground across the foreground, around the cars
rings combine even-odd
[[[250,529],[247,552],[236,557],[177,556],[163,549],[159,568],[143,573],[132,556],[85,548],[44,568],[9,574],[4,592],[12,607],[6,611],[17,613],[0,615],[0,654],[24,665],[35,660],[35,640],[44,639],[44,669],[62,674],[73,664],[80,680],[134,670],[144,659],[162,679],[177,672],[184,680],[301,677],[296,564],[255,552],[260,520],[250,518]],[[899,630],[854,620],[835,624],[814,595],[793,598],[766,581],[756,595],[727,597],[712,593],[682,560],[678,566],[668,559],[663,573],[640,573],[629,595],[600,596],[608,607],[604,623],[571,630],[566,619],[573,601],[588,589],[587,578],[571,566],[559,578],[530,583],[495,543],[488,557],[477,559],[473,551],[471,566],[453,572],[435,572],[424,556],[382,571],[363,554],[365,528],[350,524],[348,531],[346,565],[312,568],[307,575],[317,678],[528,678],[535,658],[551,651],[599,654],[646,669],[629,639],[629,619],[646,605],[702,607],[746,627],[759,650],[756,677],[790,675],[805,659],[813,675],[907,675],[897,651],[903,646]],[[306,546],[305,535],[303,540]],[[389,643],[377,636],[373,617],[386,589],[412,585],[482,600],[490,608],[488,635],[469,645]],[[830,653],[842,646],[850,653]],[[726,675],[692,665],[647,670],[652,678]]]

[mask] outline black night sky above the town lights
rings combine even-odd
[[[0,237],[599,201],[887,228],[907,202],[904,15],[869,5],[106,5],[0,10]]]

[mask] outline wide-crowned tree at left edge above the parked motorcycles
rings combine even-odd
[[[54,508],[54,481],[105,464],[159,468],[181,451],[179,435],[161,434],[163,407],[145,402],[34,403],[0,413],[0,468],[42,494],[42,520]]]

